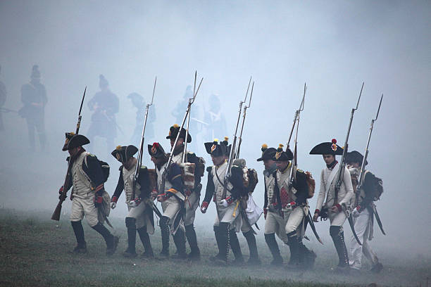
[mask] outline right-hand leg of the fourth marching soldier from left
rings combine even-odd
[[[196,209],[199,206],[199,193],[192,192],[192,194],[190,194],[185,205],[186,205],[185,233],[186,233],[187,241],[189,242],[189,245],[190,245],[189,257],[192,260],[199,260],[201,257],[201,251],[199,250],[196,231],[194,230],[194,217],[196,215]]]

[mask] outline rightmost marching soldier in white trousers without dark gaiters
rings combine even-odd
[[[351,151],[346,154],[346,164],[352,177],[352,183],[358,195],[358,203],[354,206],[351,216],[354,219],[354,227],[356,235],[361,240],[362,245],[359,245],[354,236],[350,240],[350,266],[352,269],[361,269],[362,254],[371,262],[373,267],[371,272],[379,273],[382,271],[383,265],[377,259],[373,249],[371,249],[369,240],[373,238],[373,195],[372,190],[375,189],[373,180],[375,175],[368,170],[364,171],[363,184],[360,191],[356,190],[358,186],[358,176],[363,162],[363,155],[358,151]],[[368,165],[366,161],[365,165]]]

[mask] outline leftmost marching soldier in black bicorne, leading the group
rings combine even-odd
[[[89,139],[82,134],[66,133],[63,151],[70,154],[70,174],[66,186],[63,189],[70,189],[73,186],[70,198],[72,199],[72,211],[70,221],[75,233],[77,246],[73,253],[87,253],[82,219],[87,222],[92,229],[99,232],[106,242],[106,255],[113,255],[118,245],[118,237],[113,236],[104,226],[104,221],[109,214],[109,195],[104,189],[104,182],[108,179],[108,172],[104,172],[101,162],[95,155],[85,151],[85,144],[89,144]],[[106,167],[105,167],[106,168]]]

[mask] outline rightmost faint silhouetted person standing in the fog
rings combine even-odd
[[[214,139],[217,134],[226,134],[225,115],[221,111],[220,99],[212,94],[208,100],[209,110],[205,112],[206,139]]]

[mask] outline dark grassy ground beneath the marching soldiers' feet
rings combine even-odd
[[[106,257],[103,239],[86,223],[85,236],[89,252],[73,255],[75,246],[68,216],[54,222],[49,212],[19,212],[0,209],[0,285],[1,286],[427,286],[430,260],[397,259],[388,253],[381,274],[363,271],[359,275],[339,275],[331,271],[337,263],[333,246],[318,253],[316,266],[308,272],[271,268],[270,253],[263,238],[258,248],[263,260],[260,267],[220,267],[208,257],[216,253],[211,229],[198,230],[202,260],[128,259],[121,255],[126,248],[124,219],[111,219],[121,236],[117,253]],[[248,257],[244,238],[242,250]],[[263,236],[262,236],[263,237]],[[172,240],[171,240],[172,241]],[[161,250],[160,232],[151,236],[154,253]],[[138,250],[142,245],[137,239]],[[313,248],[313,246],[311,246]],[[283,248],[283,255],[288,253]],[[173,253],[171,243],[171,253]],[[232,257],[232,254],[231,254]]]

